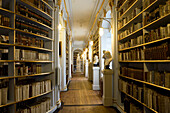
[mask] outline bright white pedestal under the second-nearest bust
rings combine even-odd
[[[93,67],[93,90],[100,90],[99,69],[100,67]]]

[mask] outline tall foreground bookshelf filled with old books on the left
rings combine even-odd
[[[53,108],[53,7],[48,0],[0,0],[0,112]]]

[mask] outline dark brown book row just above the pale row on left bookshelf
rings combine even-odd
[[[19,33],[16,34],[15,44],[44,48],[44,40],[29,37]]]

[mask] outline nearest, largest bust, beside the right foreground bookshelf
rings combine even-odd
[[[110,69],[110,62],[112,61],[112,56],[109,51],[103,51],[104,55],[104,69]]]

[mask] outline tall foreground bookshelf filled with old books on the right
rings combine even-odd
[[[169,0],[118,0],[119,90],[125,112],[169,112],[169,6]]]

